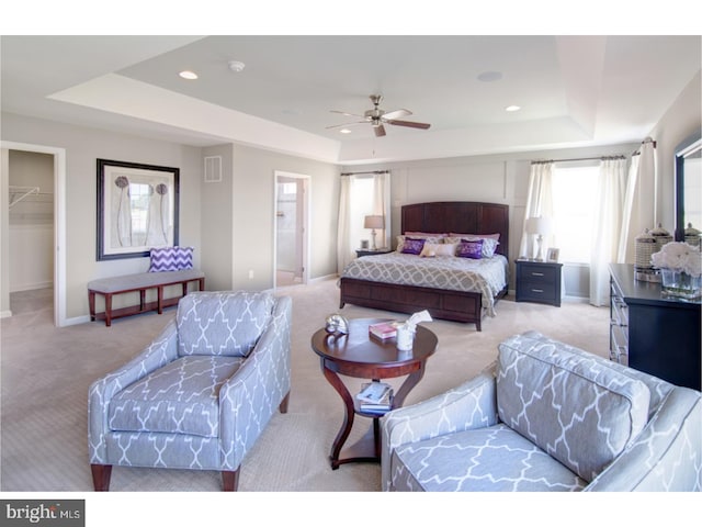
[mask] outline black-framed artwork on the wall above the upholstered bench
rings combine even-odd
[[[180,170],[98,159],[98,260],[178,245]]]

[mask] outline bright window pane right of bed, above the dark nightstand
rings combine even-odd
[[[553,173],[553,245],[559,259],[589,264],[599,165],[556,165]]]

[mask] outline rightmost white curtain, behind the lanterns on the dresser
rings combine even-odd
[[[622,231],[616,261],[635,264],[634,242],[646,228],[656,226],[656,146],[647,138],[639,155],[632,156],[622,212]]]

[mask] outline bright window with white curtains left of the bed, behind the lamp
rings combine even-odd
[[[369,192],[359,189],[369,189]],[[337,272],[355,258],[360,239],[367,237],[363,228],[365,215],[382,215],[385,228],[376,229],[376,245],[390,246],[390,173],[349,175],[341,177],[339,223],[337,231]]]

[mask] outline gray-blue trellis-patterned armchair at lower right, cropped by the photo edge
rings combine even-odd
[[[535,332],[382,419],[385,491],[700,491],[702,403]]]

